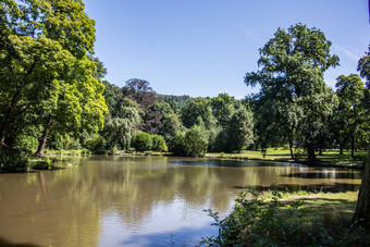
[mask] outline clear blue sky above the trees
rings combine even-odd
[[[278,27],[296,23],[321,29],[341,66],[335,78],[357,73],[370,41],[368,0],[85,0],[96,21],[96,55],[106,79],[150,83],[158,94],[242,98],[256,88],[244,82],[257,71],[258,49]]]

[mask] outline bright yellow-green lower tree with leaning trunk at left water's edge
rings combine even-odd
[[[94,77],[95,62],[84,57],[75,60],[69,76],[54,81],[52,94],[45,96],[38,119],[44,122],[36,156],[41,157],[51,129],[63,133],[98,132],[103,128],[108,108],[101,81]],[[40,95],[39,95],[40,97]]]

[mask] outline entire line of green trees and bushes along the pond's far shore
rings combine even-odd
[[[157,95],[132,78],[103,81],[94,57],[94,21],[82,1],[1,2],[0,151],[3,147],[171,151],[264,151],[287,146],[308,161],[326,148],[366,149],[369,143],[369,54],[360,75],[341,75],[336,91],[323,73],[338,65],[331,41],[316,28],[279,28],[261,49],[260,70],[245,83],[258,94],[236,100]],[[367,86],[361,77],[367,79]]]

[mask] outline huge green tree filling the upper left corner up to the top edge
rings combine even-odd
[[[4,41],[0,46],[0,97],[5,106],[0,112],[0,149],[17,119],[48,104],[46,129],[58,109],[62,115],[73,113],[71,119],[85,121],[86,126],[101,127],[107,111],[103,86],[92,77],[96,66],[86,58],[92,52],[95,22],[86,15],[84,3],[8,0],[0,3],[0,12]],[[79,107],[72,106],[75,99]]]

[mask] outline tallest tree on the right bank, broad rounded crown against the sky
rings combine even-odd
[[[323,73],[338,65],[337,55],[330,54],[331,45],[321,30],[303,24],[291,26],[287,32],[279,28],[260,49],[258,65],[261,70],[245,76],[248,86],[261,86],[260,94],[269,96],[272,106],[281,104],[283,110],[278,107],[271,118],[283,120],[282,128],[288,132],[285,135],[293,136],[297,121],[300,127],[297,133],[310,163],[316,162],[316,138],[322,120],[331,114],[330,108],[336,103],[333,92],[323,82]]]

